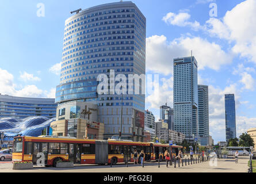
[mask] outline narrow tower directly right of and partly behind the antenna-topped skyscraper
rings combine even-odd
[[[209,144],[208,86],[198,85],[198,136],[201,145]]]

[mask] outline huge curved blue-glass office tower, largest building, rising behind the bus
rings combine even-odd
[[[56,102],[97,104],[98,121],[105,124],[106,139],[119,135],[122,125],[122,139],[142,140],[145,95],[124,93],[121,113],[122,95],[98,94],[97,86],[101,82],[97,82],[97,77],[101,74],[110,77],[107,90],[114,89],[111,84],[115,85],[114,77],[119,74],[127,78],[129,74],[145,74],[145,55],[146,18],[134,3],[114,2],[78,10],[65,22]],[[114,75],[110,75],[110,70]]]

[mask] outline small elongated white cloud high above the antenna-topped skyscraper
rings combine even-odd
[[[165,17],[162,18],[163,21],[166,22],[166,24],[170,25],[177,25],[177,26],[190,26],[194,30],[198,30],[201,28],[199,22],[194,21],[190,22],[190,14],[186,12],[181,12],[178,14],[175,13],[167,13]]]

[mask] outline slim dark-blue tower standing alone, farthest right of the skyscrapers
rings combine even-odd
[[[225,95],[226,141],[236,137],[235,95]]]

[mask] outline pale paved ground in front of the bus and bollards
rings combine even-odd
[[[37,167],[34,166],[33,170],[12,170],[12,163],[0,162],[0,173],[247,173],[248,170],[248,157],[240,157],[239,163],[236,164],[234,159],[218,159],[217,166],[210,166],[210,162],[203,162],[197,164],[190,164],[184,167],[176,168],[169,166],[166,168],[164,162],[158,168],[157,162],[145,163],[144,168],[138,165],[129,164],[128,168],[125,164],[117,164],[116,166],[75,166],[74,168],[53,168],[53,167]]]

